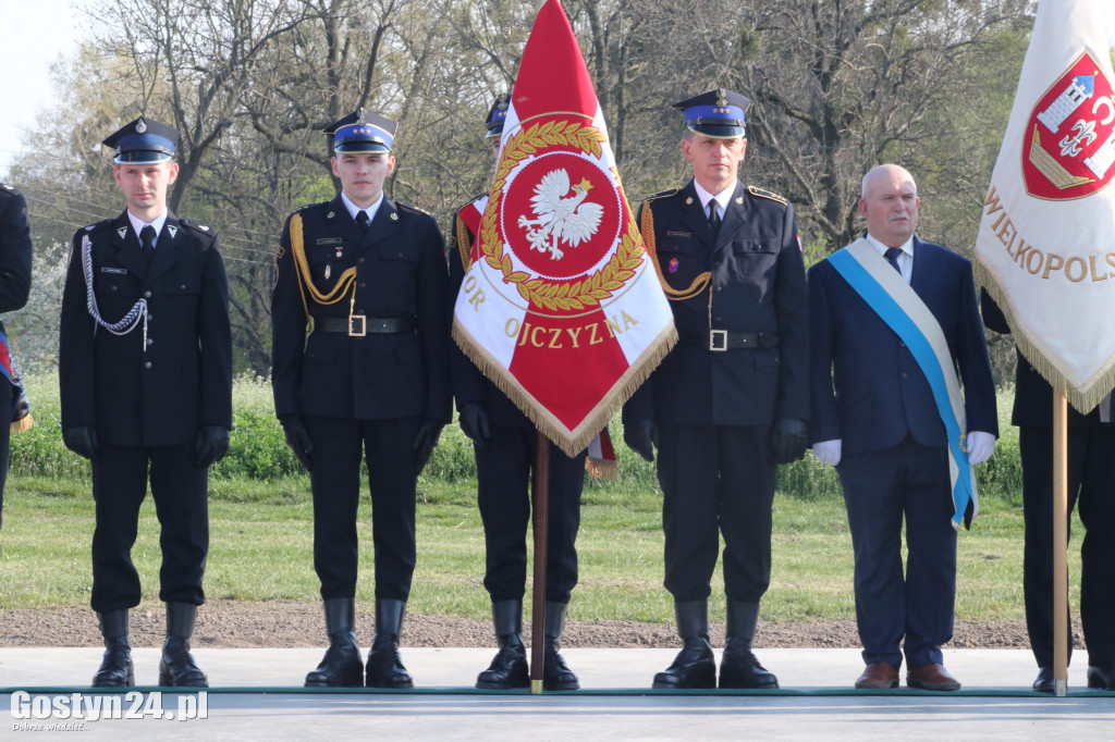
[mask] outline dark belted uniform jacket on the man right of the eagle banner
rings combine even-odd
[[[737,183],[716,241],[690,180],[651,196],[653,240],[666,282],[687,289],[711,272],[704,291],[670,301],[681,341],[623,411],[626,423],[769,426],[808,420],[808,325],[805,267],[793,207],[780,196]],[[711,297],[711,299],[710,299]],[[777,344],[711,352],[711,328],[774,335]],[[692,344],[697,342],[700,344]]]

